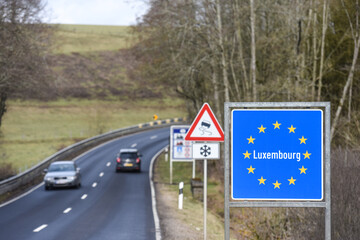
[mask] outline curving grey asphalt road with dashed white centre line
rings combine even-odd
[[[169,128],[119,138],[77,158],[80,189],[41,185],[0,208],[0,239],[155,239],[149,165],[169,144]],[[143,154],[141,173],[115,172],[120,148]]]

